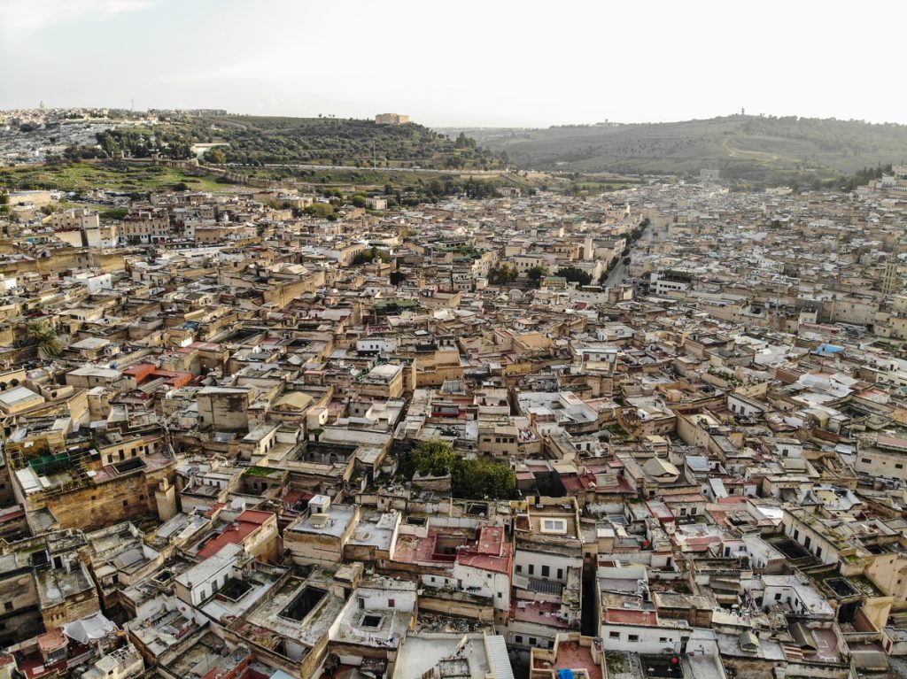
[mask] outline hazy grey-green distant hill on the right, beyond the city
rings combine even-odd
[[[705,121],[461,131],[524,168],[782,182],[834,179],[907,159],[907,126],[735,115]]]

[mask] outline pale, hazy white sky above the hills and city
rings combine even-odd
[[[904,25],[904,0],[0,0],[0,109],[907,123]]]

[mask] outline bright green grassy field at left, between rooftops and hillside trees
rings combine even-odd
[[[180,170],[150,164],[97,162],[36,164],[0,169],[0,186],[7,189],[58,189],[86,191],[108,189],[125,193],[173,189],[184,183],[188,189],[204,191],[236,190],[214,177],[194,177]]]

